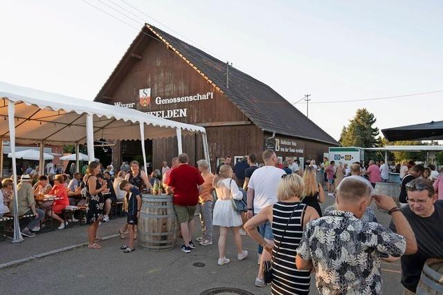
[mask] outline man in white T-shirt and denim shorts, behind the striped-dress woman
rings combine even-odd
[[[286,174],[283,169],[275,167],[278,163],[278,158],[274,151],[267,149],[263,152],[262,157],[264,166],[254,171],[248,183],[248,218],[252,218],[254,213],[257,214],[260,210],[264,209],[264,207],[268,207],[277,202],[278,182],[280,182],[282,175]],[[269,222],[260,225],[260,234],[267,243],[274,245],[271,224]],[[255,285],[257,287],[266,286],[262,272],[262,262],[264,260],[271,260],[271,254],[267,251],[263,251],[260,258],[260,268],[257,278],[255,278]]]

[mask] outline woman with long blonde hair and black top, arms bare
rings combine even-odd
[[[316,176],[316,171],[314,167],[311,166],[307,167],[305,173],[303,173],[305,189],[303,189],[302,193],[302,202],[316,209],[318,216],[322,217],[319,203],[324,203],[326,197],[325,191],[323,191],[323,187],[317,182]]]

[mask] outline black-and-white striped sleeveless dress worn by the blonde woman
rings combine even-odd
[[[272,233],[275,243],[272,250],[271,294],[273,295],[309,294],[311,272],[298,270],[294,263],[296,249],[303,234],[301,216],[305,207],[307,205],[300,202],[277,202],[273,205]],[[288,220],[289,224],[284,233]]]

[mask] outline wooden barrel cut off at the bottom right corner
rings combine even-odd
[[[426,260],[416,294],[443,294],[443,259],[432,258]]]

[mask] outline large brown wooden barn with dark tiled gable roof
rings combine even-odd
[[[320,160],[338,142],[266,84],[149,24],[129,46],[96,102],[204,126],[211,166],[226,155]],[[116,142],[118,165],[141,155],[140,142]],[[177,155],[177,137],[146,140],[154,167]],[[201,136],[183,137],[190,164],[203,157]],[[152,158],[151,158],[152,157]],[[300,159],[302,160],[302,159]],[[261,161],[261,159],[260,159]]]

